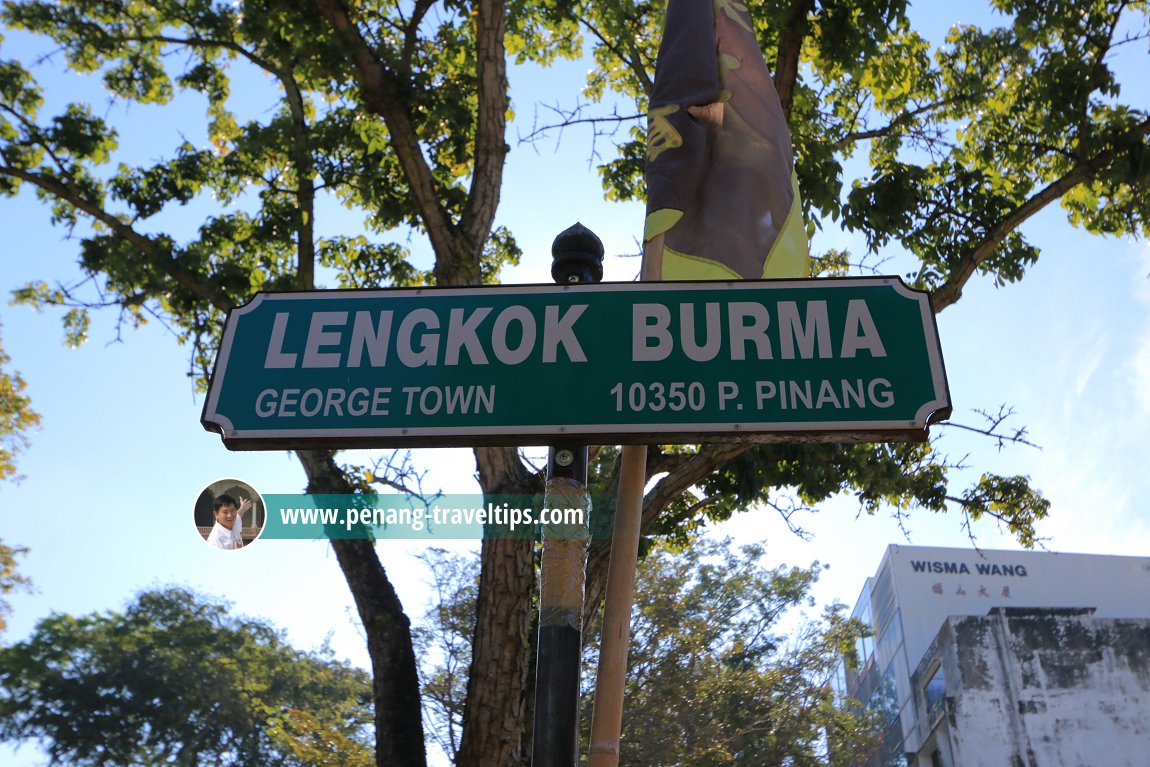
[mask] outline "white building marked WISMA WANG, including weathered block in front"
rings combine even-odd
[[[948,623],[951,616],[981,619],[995,608],[1005,608],[996,613],[997,624],[958,620]],[[1109,660],[1104,659],[1101,666],[1083,667],[1082,674],[1074,676],[1084,687],[1050,685],[1038,695],[1033,683],[1034,678],[1042,678],[1042,672],[1030,667],[1041,664],[1041,658],[1051,658],[1057,647],[1048,646],[1049,642],[1045,645],[1037,642],[1033,647],[1027,642],[1004,644],[1003,637],[1011,634],[1007,618],[1043,620],[1042,611],[1058,611],[1045,618],[1057,616],[1060,630],[1076,631],[1080,638],[1094,637],[1082,639],[1088,643],[1114,636],[1113,627],[1103,627],[1097,623],[1099,619],[1143,620],[1124,622],[1120,627],[1126,631],[1122,636],[1133,637],[1128,646],[1096,647],[1096,654]],[[872,627],[873,637],[859,642],[859,669],[844,673],[841,691],[879,712],[883,721],[882,754],[872,764],[914,767],[1150,764],[1150,750],[1137,753],[1135,761],[1109,756],[1099,757],[1096,762],[1040,758],[1045,752],[1068,751],[1068,746],[1050,745],[1049,733],[1059,728],[1066,733],[1079,728],[1082,731],[1074,737],[1092,738],[1116,749],[1135,737],[1132,733],[1141,733],[1141,742],[1150,745],[1150,558],[894,545],[887,549],[874,577],[867,578],[853,615]],[[1023,629],[1014,634],[1019,631],[1021,636],[1030,636]],[[974,636],[998,638],[976,646],[964,641]],[[989,687],[972,682],[974,677],[966,672],[990,664],[1005,670],[991,675]],[[1027,664],[1029,676],[1023,674]],[[977,678],[986,681],[987,675]],[[1049,681],[1041,681],[1040,687]],[[1019,690],[1027,683],[1030,688],[1019,697]],[[1121,693],[1107,698],[1105,689],[1101,692],[1095,689],[1099,685],[1110,685]],[[991,705],[1012,691],[1013,708]],[[1072,722],[1057,713],[1067,701],[1088,698],[1097,700],[1097,705],[1090,711],[1079,706],[1076,711],[1082,715],[1079,720]],[[1135,711],[1128,711],[1125,718],[1107,718],[1107,699]],[[1050,711],[1052,703],[1055,712]],[[1043,707],[1045,711],[1038,711]],[[1002,723],[1002,716],[1007,714],[1012,719]],[[988,729],[987,716],[999,723]],[[973,733],[972,728],[981,731]],[[1107,736],[1114,728],[1125,729],[1120,735]],[[1007,730],[1022,735],[1010,741],[1000,735]],[[1000,744],[1006,751],[977,751],[975,743],[988,747]],[[1030,752],[1019,754],[1017,762],[1010,756],[999,759],[1002,753],[1015,753],[1011,749],[1019,743],[1023,744],[1023,752],[1027,747]],[[991,752],[999,756],[988,756]]]

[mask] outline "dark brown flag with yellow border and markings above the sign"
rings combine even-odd
[[[646,278],[808,276],[787,120],[742,2],[669,0],[646,178]]]

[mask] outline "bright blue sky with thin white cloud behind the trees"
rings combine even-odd
[[[0,56],[14,55],[14,44],[21,41],[8,38]],[[513,75],[526,91],[515,95],[520,122],[511,128],[499,222],[515,232],[524,263],[505,273],[505,283],[550,282],[551,240],[575,221],[604,240],[606,279],[631,279],[638,269],[637,259],[621,254],[637,252],[643,212],[603,200],[588,160],[590,137],[570,131],[558,149],[554,143],[530,147],[514,140],[516,131],[530,130],[534,99],[553,101],[549,93],[577,87],[582,68]],[[74,94],[83,87],[67,76],[56,82]],[[1137,86],[1147,93],[1144,82]],[[186,128],[172,113],[116,107],[110,114],[125,125],[124,146],[143,156],[159,156]],[[194,223],[184,215],[174,225]],[[358,231],[351,216],[329,225]],[[32,194],[0,200],[0,289],[77,276],[76,243],[49,225],[48,210]],[[984,438],[936,428],[940,446],[954,457],[969,454],[969,481],[983,470],[1029,475],[1052,501],[1051,519],[1040,527],[1046,547],[1144,555],[1150,552],[1150,248],[1075,230],[1057,208],[1023,229],[1042,248],[1026,278],[1002,287],[975,279],[938,323],[954,420],[975,424],[975,408],[1013,406],[1018,415],[1011,423],[1027,425],[1041,450],[997,451]],[[814,250],[844,246],[861,250],[827,233]],[[0,538],[31,550],[21,569],[37,588],[12,597],[3,641],[23,638],[49,612],[118,608],[140,589],[181,583],[231,599],[237,612],[267,618],[297,645],[330,638],[337,654],[367,664],[327,544],[264,542],[230,554],[195,537],[192,506],[214,480],[239,477],[262,492],[290,493],[302,489],[304,474],[288,453],[232,453],[200,427],[202,398],[185,375],[187,350],[170,332],[152,323],[124,329],[117,338],[115,317],[98,314],[91,340],[71,350],[61,343],[59,315],[0,306],[0,321],[12,367],[44,416],[43,430],[31,435],[21,457],[24,480],[0,485]],[[429,467],[427,484],[434,489],[477,490],[469,451],[421,451],[416,461]],[[846,603],[890,543],[972,545],[957,514],[912,512],[900,526],[887,515],[860,516],[851,498],[835,499],[800,523],[811,539],[788,532],[774,512],[752,509],[716,534],[766,542],[775,561],[830,563],[819,597]],[[992,523],[973,532],[986,547],[1017,545]],[[430,590],[409,546],[384,542],[379,553],[405,605],[419,612]],[[30,749],[17,759],[37,764]]]

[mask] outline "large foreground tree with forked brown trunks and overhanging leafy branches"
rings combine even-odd
[[[957,26],[937,47],[911,28],[903,0],[769,0],[754,9],[808,221],[862,232],[872,252],[905,254],[905,273],[933,292],[937,310],[975,276],[1020,279],[1038,253],[1019,228],[1056,201],[1090,231],[1147,232],[1150,116],[1122,100],[1112,69],[1116,52],[1147,37],[1145,3],[995,7],[1002,26]],[[109,98],[164,105],[181,94],[206,110],[200,138],[159,161],[109,167],[116,130],[102,110],[74,103],[41,114],[31,63],[0,64],[2,191],[30,186],[60,224],[92,228],[76,230],[77,284],[33,284],[17,299],[68,307],[75,338],[93,306],[128,323],[158,317],[191,346],[201,373],[223,312],[255,290],[314,287],[324,269],[340,285],[497,279],[518,258],[512,232],[493,227],[508,152],[507,62],[546,66],[586,43],[585,98],[631,101],[642,115],[662,18],[661,2],[8,0],[3,8],[7,24],[51,39],[70,67],[101,78]],[[267,77],[270,110],[230,98],[233,77],[253,69]],[[626,112],[573,112],[565,121],[622,130],[618,156],[603,167],[615,199],[642,194],[644,139]],[[325,233],[316,205],[324,197],[362,212],[365,235]],[[209,210],[194,232],[156,223],[192,201]],[[434,253],[425,274],[407,260],[409,229]],[[818,268],[837,274],[852,262],[823,252]],[[987,430],[998,435],[994,424]],[[538,489],[514,450],[475,455],[485,492]],[[362,471],[331,453],[298,457],[309,491],[363,485]],[[851,492],[868,512],[914,506],[991,517],[1033,543],[1048,504],[1026,477],[986,473],[952,488],[953,466],[928,445],[654,448],[643,524],[647,535],[678,536],[704,515],[770,505],[788,513],[777,489],[791,488],[799,505]],[[332,547],[371,657],[377,764],[422,766],[407,615],[370,542]],[[608,547],[592,544],[592,606]],[[481,557],[460,764],[509,766],[523,760],[530,721],[532,547],[485,540]]]

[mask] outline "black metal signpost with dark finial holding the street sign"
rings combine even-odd
[[[582,224],[560,232],[551,246],[558,284],[603,279],[603,243]],[[578,764],[578,678],[583,636],[583,584],[591,511],[586,445],[555,444],[547,454],[547,508],[582,508],[582,524],[546,524],[539,565],[539,634],[535,675],[531,767]]]

